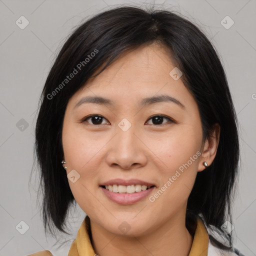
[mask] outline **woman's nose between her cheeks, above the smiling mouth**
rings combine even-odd
[[[128,170],[146,164],[147,147],[139,136],[139,132],[132,126],[135,127],[135,125],[131,125],[126,131],[117,127],[116,134],[108,143],[106,161],[109,166]]]

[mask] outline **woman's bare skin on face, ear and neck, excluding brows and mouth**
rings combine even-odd
[[[215,157],[220,129],[202,141],[196,101],[180,78],[169,75],[174,66],[163,45],[140,46],[90,78],[68,101],[63,159],[67,174],[75,169],[80,175],[76,182],[68,182],[90,218],[92,245],[100,256],[189,254],[193,237],[185,227],[187,199],[197,171],[205,169],[202,162],[210,165]],[[139,106],[141,98],[159,94],[175,97],[185,108],[173,102]],[[84,96],[107,97],[114,105],[84,103],[74,108]],[[99,124],[95,118],[80,122],[90,114],[103,118]],[[163,118],[157,124],[150,118],[159,114],[175,122]],[[123,118],[131,124],[125,132],[118,126]],[[113,178],[137,178],[155,184],[153,195],[197,151],[201,155],[154,202],[145,197],[121,205],[99,187]],[[123,221],[130,226],[126,233],[118,228]]]

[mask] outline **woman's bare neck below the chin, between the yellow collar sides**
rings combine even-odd
[[[92,246],[99,256],[187,256],[193,241],[180,214],[141,236],[118,235],[93,221],[90,228]]]

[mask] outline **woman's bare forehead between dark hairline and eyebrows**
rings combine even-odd
[[[192,95],[170,71],[175,68],[163,45],[141,46],[124,52],[99,75],[87,80],[71,98],[76,105],[81,97],[101,96],[116,104],[141,101],[141,98],[167,94],[185,104]],[[97,72],[98,70],[96,70]]]

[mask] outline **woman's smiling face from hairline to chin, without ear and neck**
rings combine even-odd
[[[68,101],[62,144],[69,186],[105,230],[143,235],[185,216],[202,129],[196,101],[169,74],[174,67],[163,46],[141,46]],[[163,95],[171,100],[145,100]],[[84,99],[95,96],[110,103]]]

